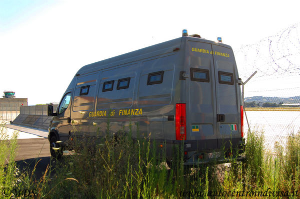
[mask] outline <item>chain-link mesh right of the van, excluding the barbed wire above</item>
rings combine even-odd
[[[263,132],[266,147],[272,148],[275,142],[285,146],[288,135],[300,131],[300,96],[263,97],[257,92],[245,92],[245,112],[251,130]],[[299,88],[263,91],[266,96],[284,96],[299,93]],[[275,94],[273,94],[275,93]],[[245,117],[245,116],[244,116]],[[244,120],[245,132],[247,123]]]

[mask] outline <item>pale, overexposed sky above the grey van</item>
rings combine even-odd
[[[82,66],[180,37],[182,29],[221,36],[235,51],[299,23],[296,2],[0,0],[0,92],[15,91],[29,105],[59,102]]]

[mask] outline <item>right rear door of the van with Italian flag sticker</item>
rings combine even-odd
[[[237,96],[237,71],[231,49],[212,45],[214,60],[214,78],[216,91],[216,114],[217,114],[217,140],[218,147],[224,144],[226,147],[229,141],[240,138],[238,133],[239,106]]]

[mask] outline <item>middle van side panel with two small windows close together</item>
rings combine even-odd
[[[136,136],[134,124],[138,121],[138,117],[135,115],[136,103],[134,100],[139,67],[140,64],[135,62],[111,67],[100,72],[96,108],[94,114],[91,113],[89,116],[91,123],[92,121],[97,123],[98,135],[106,135],[108,123],[110,131],[113,133],[121,130],[128,131],[131,123],[132,136]],[[122,79],[128,80],[128,87],[120,89],[118,82]],[[111,81],[113,81],[112,90],[105,91],[106,82]]]

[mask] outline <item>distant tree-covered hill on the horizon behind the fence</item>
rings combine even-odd
[[[263,97],[263,96],[252,96],[252,97],[245,97],[244,102],[256,102],[256,103],[276,103],[279,104],[280,102],[283,104],[295,104],[300,103],[300,96],[294,97]]]

